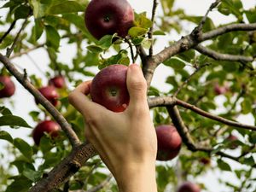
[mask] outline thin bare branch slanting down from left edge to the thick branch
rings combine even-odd
[[[0,54],[0,61],[9,70],[9,72],[15,76],[20,84],[22,84],[26,88],[26,90],[28,90],[61,125],[61,129],[66,133],[73,147],[78,146],[80,144],[79,137],[77,137],[71,125],[67,123],[67,120],[61,115],[61,113],[56,110],[55,107],[30,83],[30,81],[26,79],[24,75],[15,68],[15,66],[9,61],[6,56]]]

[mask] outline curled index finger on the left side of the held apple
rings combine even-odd
[[[102,109],[102,106],[91,102],[86,96],[90,94],[90,84],[91,81],[79,84],[68,96],[68,101],[83,114],[85,119],[90,119],[90,117],[95,116]]]

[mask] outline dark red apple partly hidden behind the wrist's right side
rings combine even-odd
[[[156,160],[172,160],[177,156],[182,146],[182,138],[175,126],[159,125],[155,131],[157,136]]]

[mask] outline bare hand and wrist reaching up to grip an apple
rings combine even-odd
[[[113,173],[120,192],[156,192],[157,140],[141,68],[133,64],[127,70],[130,104],[121,113],[114,113],[84,96],[89,95],[90,84],[90,81],[80,84],[69,95],[69,101],[88,124],[86,138]]]

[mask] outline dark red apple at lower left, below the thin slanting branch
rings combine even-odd
[[[32,137],[34,142],[39,145],[41,138],[44,136],[44,132],[54,138],[59,135],[59,131],[61,131],[61,127],[55,121],[44,120],[34,128],[32,131]]]

